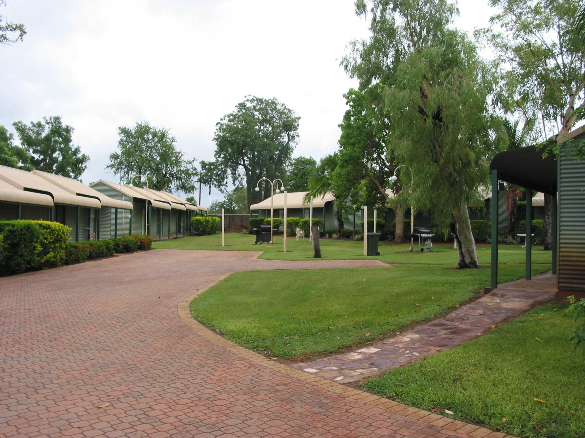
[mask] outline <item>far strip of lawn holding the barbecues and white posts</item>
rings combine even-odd
[[[170,241],[154,242],[153,248],[202,249],[217,251],[263,251],[260,259],[267,260],[307,260],[312,259],[313,250],[309,239],[296,241],[287,238],[287,252],[283,252],[283,237],[274,237],[274,245],[254,245],[250,234],[226,233],[225,246],[221,246],[221,234],[192,236]],[[409,252],[409,244],[380,242],[379,256],[363,256],[363,241],[321,239],[321,252],[326,260],[381,260],[386,263],[422,263],[425,265],[455,265],[457,251],[453,244],[435,244],[433,252]],[[500,245],[500,263],[524,263],[525,248],[519,245]],[[481,265],[491,263],[491,245],[478,245],[477,258]],[[542,246],[532,246],[532,263],[550,263],[551,252],[543,251]]]

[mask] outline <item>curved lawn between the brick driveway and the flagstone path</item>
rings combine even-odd
[[[532,272],[548,269],[536,264]],[[503,264],[500,281],[524,272],[524,265]],[[489,267],[457,270],[453,263],[242,272],[195,298],[191,313],[239,345],[306,359],[434,318],[489,282]]]

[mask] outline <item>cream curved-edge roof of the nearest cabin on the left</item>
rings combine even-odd
[[[0,166],[0,179],[13,186],[16,190],[47,194],[53,199],[53,203],[56,204],[101,208],[101,203],[98,199],[87,196],[78,196],[77,194],[54,185],[46,179],[41,178],[39,175],[35,175],[33,172]],[[46,205],[46,203],[40,205]]]

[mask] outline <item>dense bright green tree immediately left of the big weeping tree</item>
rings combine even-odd
[[[370,91],[375,91],[375,88]],[[339,124],[341,137],[339,166],[333,175],[342,197],[350,196],[356,206],[386,206],[396,215],[395,241],[404,239],[404,194],[400,179],[392,183],[395,172],[400,177],[396,157],[388,148],[390,124],[383,110],[369,102],[366,93],[350,89],[343,95],[349,109]],[[390,193],[393,196],[390,196]],[[379,207],[378,207],[379,208]],[[382,209],[384,209],[383,207]]]

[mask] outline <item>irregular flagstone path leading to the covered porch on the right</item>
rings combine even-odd
[[[531,281],[511,281],[445,318],[355,352],[292,367],[340,383],[376,376],[476,338],[493,326],[555,296],[556,279],[552,274],[535,276]]]

